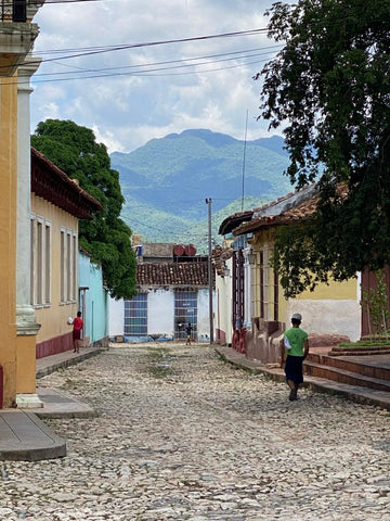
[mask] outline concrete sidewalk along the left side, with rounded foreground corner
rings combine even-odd
[[[62,391],[39,386],[39,379],[101,352],[83,347],[80,353],[68,351],[37,360],[37,394],[43,407],[0,410],[0,460],[38,461],[66,456],[66,441],[39,418],[89,418],[96,412]]]

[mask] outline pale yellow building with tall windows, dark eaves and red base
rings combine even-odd
[[[73,348],[79,310],[78,223],[101,204],[42,153],[31,148],[30,302],[40,329],[37,358]]]

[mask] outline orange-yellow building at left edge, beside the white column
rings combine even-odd
[[[43,2],[40,2],[40,4]],[[18,328],[17,307],[17,223],[20,209],[28,205],[28,200],[18,198],[20,141],[18,125],[18,73],[26,62],[38,36],[38,26],[31,23],[39,4],[37,2],[6,2],[0,7],[0,383],[2,407],[16,404],[16,394],[23,392],[25,371],[22,367],[31,364],[35,354],[36,327]],[[27,143],[29,149],[29,143]],[[22,217],[23,218],[23,217]],[[23,314],[21,314],[22,316]],[[23,321],[24,319],[22,319]],[[32,320],[34,322],[34,320]],[[32,371],[29,371],[32,373]],[[34,377],[28,377],[26,385],[35,392]],[[34,380],[34,382],[32,382]],[[34,387],[34,391],[32,391]]]

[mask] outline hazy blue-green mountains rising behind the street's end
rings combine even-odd
[[[110,154],[126,203],[122,219],[143,241],[197,246],[206,253],[211,199],[213,244],[229,215],[253,208],[291,190],[288,156],[278,136],[240,141],[206,129],[152,139]]]

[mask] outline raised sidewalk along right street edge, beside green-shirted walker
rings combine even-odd
[[[266,366],[258,360],[249,360],[246,356],[232,347],[216,346],[217,353],[230,364],[248,371],[265,374],[273,380],[284,382],[286,380],[284,370]],[[373,355],[375,356],[375,355]],[[373,363],[375,364],[375,361]],[[388,365],[388,361],[387,361]],[[386,391],[376,391],[375,389],[362,387],[359,385],[348,385],[346,383],[334,382],[318,377],[304,377],[303,386],[308,386],[321,393],[337,394],[360,404],[368,404],[390,410],[390,393]]]

